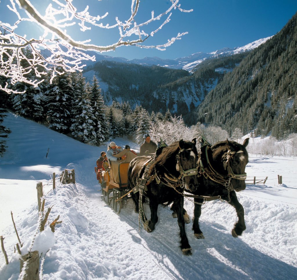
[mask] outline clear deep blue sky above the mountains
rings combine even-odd
[[[8,17],[8,13],[5,12],[7,2],[8,0],[0,1],[0,20],[2,21],[8,20],[5,19]],[[50,2],[50,0],[31,0],[31,3],[39,5],[39,8],[45,7]],[[224,47],[240,47],[276,34],[297,12],[296,0],[180,0],[179,3],[182,8],[193,9],[193,12],[183,13],[175,10],[170,23],[151,38],[152,40],[147,41],[149,45],[160,44],[176,36],[178,32],[189,32],[166,51],[123,46],[102,54],[128,59],[145,56],[174,59],[197,52],[212,52]],[[108,11],[108,18],[103,20],[103,23],[113,24],[116,16],[120,20],[127,19],[131,1],[73,0],[73,4],[80,5],[81,9],[87,4],[90,5],[89,11],[93,15],[103,15]],[[166,10],[169,5],[168,0],[141,0],[138,16],[143,18],[143,21],[147,20],[152,10],[157,15]],[[42,10],[40,11],[42,14]],[[71,34],[73,30],[69,29],[67,32]],[[117,40],[116,34],[118,34],[117,30],[102,32],[95,31],[93,28],[83,35],[73,32],[71,36],[75,40],[83,40],[84,36],[89,36],[92,38],[91,43],[110,45]]]

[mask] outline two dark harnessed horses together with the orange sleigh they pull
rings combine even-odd
[[[210,145],[201,137],[200,151],[197,151],[196,138],[192,141],[181,139],[164,149],[157,149],[154,157],[138,156],[130,163],[118,164],[118,180],[115,179],[115,165],[105,162],[105,170],[96,171],[95,167],[101,183],[102,200],[111,205],[114,212],[120,213],[127,199],[132,198],[135,212],[139,213],[139,224],[142,223],[147,232],[152,232],[158,222],[158,205],[171,205],[170,209],[177,214],[180,247],[185,255],[192,252],[185,231],[187,212],[184,197],[194,198],[192,230],[198,239],[204,238],[199,227],[203,203],[214,199],[225,200],[235,208],[238,216],[231,231],[232,236],[237,237],[246,229],[244,208],[238,202],[236,192],[246,187],[248,142],[249,138],[242,145],[227,139]],[[144,197],[149,200],[150,219],[144,213]]]

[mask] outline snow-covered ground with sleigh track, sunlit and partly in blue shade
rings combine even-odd
[[[42,252],[41,259],[46,253],[43,279],[296,279],[296,158],[250,155],[248,179],[268,176],[268,180],[265,185],[249,184],[237,193],[247,229],[233,238],[235,210],[226,202],[207,202],[200,218],[205,239],[196,239],[192,225],[187,224],[193,255],[184,256],[179,249],[177,220],[168,208],[159,207],[156,229],[147,233],[138,229],[132,201],[119,215],[101,201],[94,166],[106,145],[85,145],[7,115],[4,125],[12,133],[7,153],[0,158],[0,235],[9,265],[0,253],[1,280],[19,277],[20,255],[14,253],[18,239],[10,211],[23,243],[22,254],[31,246]],[[115,142],[139,150],[124,139]],[[73,168],[76,184],[61,185],[59,173]],[[57,177],[54,191],[53,172]],[[282,176],[281,185],[277,175]],[[55,233],[48,226],[42,233],[37,231],[39,181],[44,186],[45,209],[53,206],[48,221],[58,215],[62,221]],[[193,203],[186,200],[185,208],[192,217]]]

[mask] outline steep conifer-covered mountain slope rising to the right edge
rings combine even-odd
[[[206,95],[192,118],[278,139],[297,132],[297,15],[274,37],[248,53]]]

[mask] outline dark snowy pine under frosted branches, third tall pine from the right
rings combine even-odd
[[[46,121],[48,127],[60,133],[68,133],[70,128],[69,104],[71,89],[71,81],[69,75],[62,74],[53,80],[52,84],[48,84],[46,96]]]

